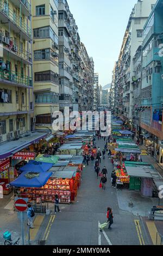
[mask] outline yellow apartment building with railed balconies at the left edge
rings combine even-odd
[[[3,143],[34,130],[31,5],[27,0],[1,0],[0,17],[0,143]]]

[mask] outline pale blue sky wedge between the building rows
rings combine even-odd
[[[137,0],[67,0],[80,40],[93,57],[102,86],[111,83],[129,16]]]

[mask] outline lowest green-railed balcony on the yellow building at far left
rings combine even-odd
[[[21,76],[16,74],[14,71],[7,71],[0,69],[0,82],[5,84],[14,85],[17,87],[29,87],[32,88],[32,77]]]

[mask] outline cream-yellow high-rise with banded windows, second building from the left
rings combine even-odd
[[[32,1],[33,80],[37,130],[53,131],[59,111],[58,1]]]

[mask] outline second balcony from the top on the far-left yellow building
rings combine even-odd
[[[26,50],[14,45],[14,42],[8,36],[0,34],[0,43],[3,44],[3,53],[15,60],[20,60],[23,64],[32,65],[32,54]]]

